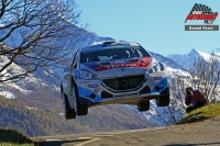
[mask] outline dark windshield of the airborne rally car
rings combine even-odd
[[[142,47],[96,49],[81,53],[80,63],[108,61],[135,57],[151,57],[151,55]]]

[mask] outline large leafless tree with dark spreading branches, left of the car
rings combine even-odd
[[[81,34],[79,16],[74,0],[1,0],[0,82],[64,63],[68,38]]]

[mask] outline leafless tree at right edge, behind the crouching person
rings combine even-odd
[[[189,70],[191,86],[200,90],[209,102],[218,102],[220,92],[220,60],[215,53],[207,59],[201,57],[193,61]]]

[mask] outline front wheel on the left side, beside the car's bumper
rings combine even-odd
[[[75,100],[76,115],[78,115],[78,116],[87,115],[88,114],[88,105],[87,104],[80,104],[76,83],[73,85],[73,94],[75,94],[75,97],[76,97],[76,100]]]

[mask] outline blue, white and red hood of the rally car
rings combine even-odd
[[[80,65],[80,69],[89,69],[100,77],[119,77],[143,75],[153,60],[153,57],[116,59],[110,61],[92,61]]]

